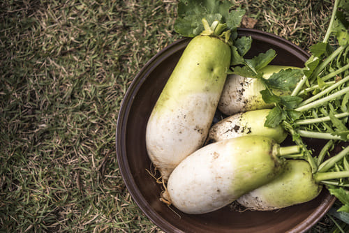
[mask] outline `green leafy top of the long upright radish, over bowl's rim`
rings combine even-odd
[[[198,36],[203,31],[207,31],[207,27],[202,23],[203,19],[211,25],[212,32],[215,30],[217,30],[215,33],[221,33],[223,30],[235,31],[239,27],[245,11],[230,11],[232,6],[233,4],[230,1],[180,0],[177,9],[178,17],[174,23],[174,31],[181,34],[181,36]],[[219,24],[216,22],[219,22]]]

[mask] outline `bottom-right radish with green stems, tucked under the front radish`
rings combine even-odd
[[[339,160],[346,160],[348,155],[349,146],[321,163],[315,173],[305,160],[286,160],[283,172],[276,179],[239,197],[237,202],[258,211],[272,211],[309,202],[318,197],[328,181],[332,185],[341,186],[340,179],[349,177],[348,170],[329,171]]]

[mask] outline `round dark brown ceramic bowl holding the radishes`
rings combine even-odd
[[[309,58],[309,54],[296,45],[270,33],[254,29],[239,29],[238,33],[253,38],[247,57],[272,48],[278,54],[272,61],[275,65],[302,67]],[[135,77],[121,105],[116,135],[117,161],[133,200],[165,232],[299,233],[309,230],[335,201],[327,190],[311,202],[279,211],[238,212],[226,206],[212,213],[189,215],[159,201],[162,186],[147,172],[151,162],[145,146],[145,128],[158,96],[189,41],[178,40],[156,54]],[[310,140],[309,144],[319,148],[322,142]]]

